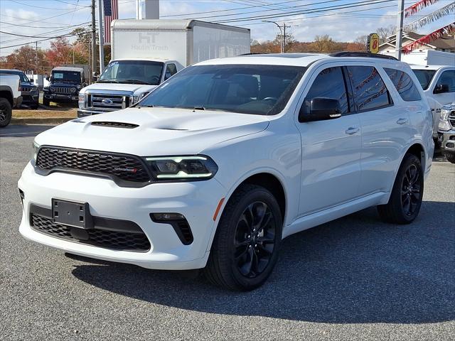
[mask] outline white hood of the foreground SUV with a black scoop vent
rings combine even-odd
[[[138,126],[128,129],[92,122]],[[268,117],[260,115],[141,107],[68,121],[36,136],[36,143],[138,156],[189,155],[263,131],[268,125]]]

